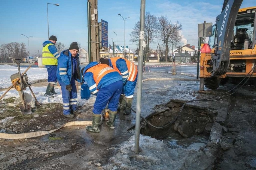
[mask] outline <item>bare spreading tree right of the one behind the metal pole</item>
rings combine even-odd
[[[172,24],[171,21],[167,19],[167,16],[160,16],[158,22],[158,30],[160,32],[161,40],[163,40],[166,45],[165,61],[167,61],[169,52],[168,43],[174,42],[174,44],[177,44],[181,41],[180,31],[182,30],[182,25],[178,21]]]

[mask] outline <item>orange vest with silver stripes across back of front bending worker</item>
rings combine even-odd
[[[93,80],[96,83],[96,86],[98,86],[99,81],[108,73],[116,72],[112,67],[106,65],[106,64],[97,64],[96,66],[91,67],[86,72],[92,72],[93,73]]]

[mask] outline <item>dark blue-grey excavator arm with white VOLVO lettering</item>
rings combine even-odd
[[[215,54],[212,54],[213,69],[211,75],[218,77],[227,72],[230,59],[230,45],[236,16],[243,0],[224,0],[221,14],[216,18],[217,42]]]

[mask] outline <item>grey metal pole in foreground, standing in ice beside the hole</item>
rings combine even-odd
[[[137,104],[136,104],[136,124],[135,124],[135,146],[134,151],[139,153],[139,130],[141,115],[141,94],[142,94],[142,65],[143,65],[143,48],[144,41],[144,24],[145,24],[145,1],[140,1],[140,33],[139,33],[139,63],[138,63],[138,88],[137,88]]]

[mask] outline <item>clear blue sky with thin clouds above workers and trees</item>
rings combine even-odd
[[[0,45],[11,42],[24,42],[30,54],[42,50],[42,43],[48,39],[47,29],[48,4],[50,35],[55,35],[66,48],[73,41],[81,43],[88,49],[87,37],[87,0],[1,0],[0,10]],[[167,16],[172,22],[181,22],[183,29],[183,44],[198,44],[197,26],[200,23],[215,23],[216,16],[221,12],[223,0],[146,0],[146,12],[155,16]],[[255,0],[244,0],[242,7],[256,6]],[[108,22],[108,43],[112,38],[117,44],[123,45],[123,19],[125,21],[125,45],[136,49],[137,44],[130,42],[130,33],[140,17],[140,0],[98,0],[98,22],[103,19]],[[158,40],[151,44],[157,48]],[[162,42],[159,42],[162,43]]]

